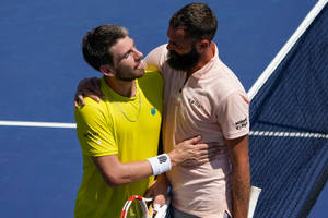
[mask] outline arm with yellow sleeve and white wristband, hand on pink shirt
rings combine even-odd
[[[105,118],[108,111],[102,107],[104,102],[98,105],[91,99],[85,100],[86,105],[78,107],[74,112],[78,137],[83,153],[93,157],[94,164],[110,186],[136,182],[151,174],[160,174],[186,161],[200,165],[210,156],[211,146],[200,143],[201,137],[197,136],[179,143],[173,150],[161,157],[120,162],[116,156],[117,146],[115,146],[113,129],[108,123],[110,120]]]

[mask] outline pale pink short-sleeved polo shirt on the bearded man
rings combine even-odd
[[[220,148],[216,157],[200,167],[175,167],[167,173],[173,204],[200,217],[223,217],[231,211],[231,166],[224,138],[249,132],[247,95],[234,73],[215,56],[187,81],[186,73],[166,63],[166,45],[145,59],[156,66],[165,81],[163,140],[169,152],[184,140],[202,136],[203,143]]]

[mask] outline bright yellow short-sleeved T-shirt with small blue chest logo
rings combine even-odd
[[[112,189],[91,157],[117,155],[121,162],[128,162],[157,155],[163,94],[161,74],[147,72],[137,80],[133,98],[115,93],[104,77],[101,78],[101,87],[106,97],[104,101],[95,102],[85,98],[85,106],[75,109],[77,132],[83,156],[83,178],[77,196],[75,218],[119,217],[127,198],[136,194],[143,195],[153,181],[153,177],[150,177]],[[130,120],[138,120],[130,122],[125,114]]]

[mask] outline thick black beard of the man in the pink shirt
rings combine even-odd
[[[189,71],[197,65],[200,59],[200,55],[197,52],[194,46],[191,51],[186,55],[178,55],[174,50],[168,51],[167,63],[171,68],[178,71]]]

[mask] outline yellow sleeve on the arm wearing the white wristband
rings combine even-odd
[[[93,157],[118,153],[113,123],[108,120],[108,111],[102,110],[101,104],[105,102],[94,102],[86,98],[85,106],[77,108],[74,112],[82,153]]]

